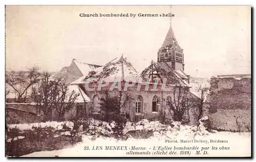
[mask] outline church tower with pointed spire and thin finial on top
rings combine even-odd
[[[171,7],[172,12],[172,7]],[[170,13],[172,15],[172,13]],[[183,49],[179,46],[172,29],[172,17],[170,17],[170,28],[164,39],[162,47],[157,53],[158,62],[166,62],[174,70],[184,71]]]

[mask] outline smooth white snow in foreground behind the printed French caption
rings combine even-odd
[[[250,133],[232,133],[232,132],[216,132],[208,136],[196,136],[195,140],[228,140],[228,143],[180,143],[180,140],[189,139],[182,136],[183,133],[177,134],[175,136],[172,132],[158,133],[156,132],[154,137],[142,140],[142,139],[128,139],[126,141],[117,141],[114,138],[97,138],[95,141],[92,140],[92,136],[83,136],[82,142],[77,143],[74,147],[65,148],[55,151],[40,151],[34,152],[23,157],[88,157],[88,156],[142,156],[142,155],[127,155],[128,150],[105,150],[106,146],[127,146],[130,149],[132,146],[146,147],[147,150],[152,151],[152,149],[157,146],[168,146],[168,147],[210,147],[207,150],[209,154],[207,155],[196,155],[195,151],[189,156],[250,156]],[[165,143],[165,140],[175,140],[177,139],[179,143]],[[93,150],[99,146],[102,150]],[[211,150],[211,147],[217,147],[218,150]],[[220,150],[219,148],[229,147],[228,150]],[[86,149],[90,150],[86,150]],[[145,155],[144,155],[145,156]],[[153,156],[146,155],[146,156]],[[157,156],[157,155],[155,155]],[[158,156],[175,156],[175,155],[158,155]],[[176,155],[176,156],[188,156],[188,155]]]

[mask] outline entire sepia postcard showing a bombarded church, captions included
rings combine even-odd
[[[251,157],[251,6],[6,6],[7,157]]]

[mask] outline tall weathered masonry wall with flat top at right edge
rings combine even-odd
[[[211,128],[229,131],[250,131],[250,77],[239,79],[235,77],[212,77],[207,102]]]

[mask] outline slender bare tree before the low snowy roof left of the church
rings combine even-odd
[[[56,93],[55,109],[59,114],[59,120],[62,121],[64,115],[72,109],[79,93],[76,93],[74,90],[70,92],[68,85],[61,82]]]

